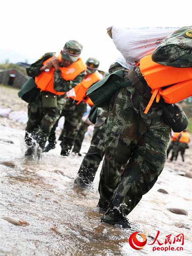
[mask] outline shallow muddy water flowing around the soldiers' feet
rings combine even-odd
[[[57,145],[39,161],[26,160],[23,137],[24,131],[1,126],[1,256],[191,255],[191,230],[175,226],[191,224],[190,178],[179,176],[168,164],[158,183],[129,215],[132,230],[121,230],[100,223],[102,212],[96,207],[99,173],[89,189],[74,185],[83,157],[60,157]],[[88,147],[89,143],[84,143],[82,151]],[[176,215],[167,208],[182,208],[189,214]],[[29,225],[16,226],[3,216],[22,219]],[[152,252],[148,244],[158,230],[161,242],[169,234],[183,233],[183,252]],[[142,250],[134,250],[128,243],[135,231],[147,236]]]

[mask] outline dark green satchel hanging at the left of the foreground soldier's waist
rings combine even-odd
[[[107,107],[113,101],[115,93],[122,87],[131,86],[129,81],[123,82],[123,70],[117,70],[92,85],[86,95],[96,107]]]

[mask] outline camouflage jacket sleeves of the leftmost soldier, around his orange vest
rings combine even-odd
[[[43,62],[48,58],[51,58],[55,55],[55,52],[48,52],[44,54],[39,60],[31,64],[30,67],[26,68],[28,76],[35,77],[39,76],[41,71],[40,68],[43,66]],[[66,81],[61,77],[60,70],[54,71],[54,90],[57,92],[67,92],[79,84],[83,77],[86,75],[86,71],[80,73],[74,80]]]

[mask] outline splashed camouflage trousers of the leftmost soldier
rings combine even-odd
[[[44,148],[52,127],[60,116],[63,105],[57,101],[55,108],[43,108],[41,96],[28,105],[28,122],[26,127],[25,142],[32,145],[32,139],[36,140],[41,148]]]

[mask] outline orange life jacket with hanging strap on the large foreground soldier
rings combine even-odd
[[[147,55],[140,59],[140,72],[152,88],[152,97],[144,113],[149,111],[155,97],[156,102],[162,96],[166,103],[173,104],[192,96],[192,67],[163,66]]]

